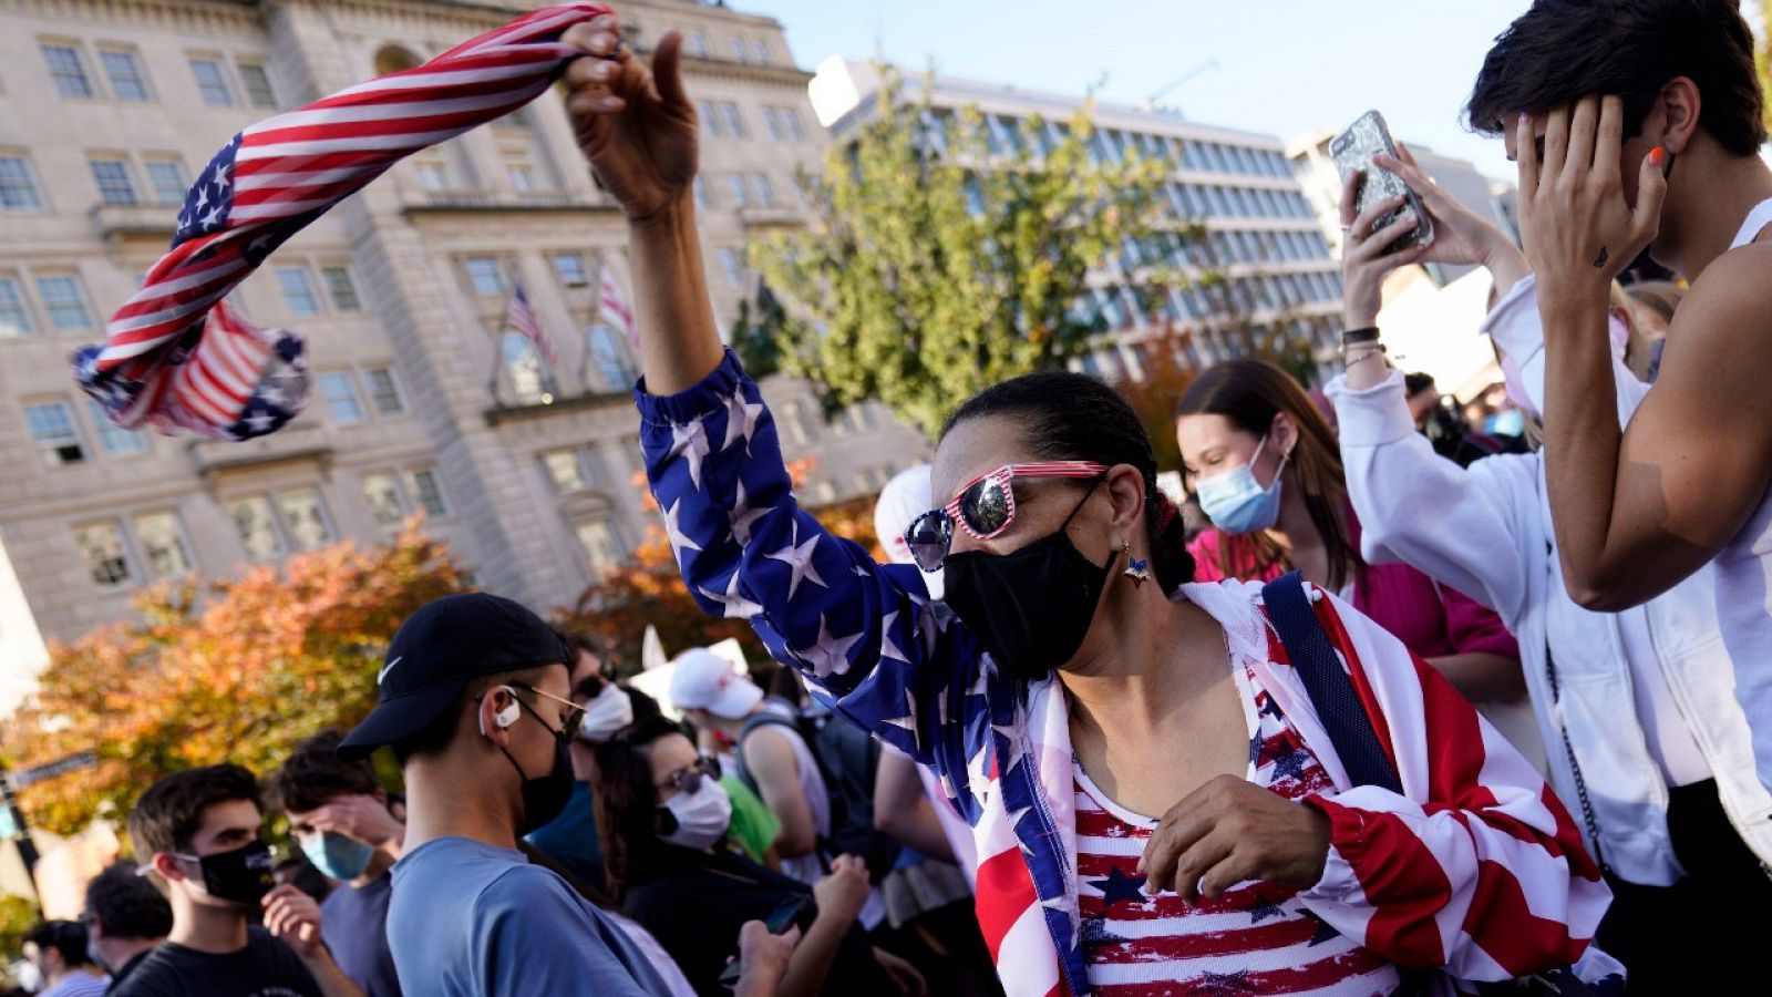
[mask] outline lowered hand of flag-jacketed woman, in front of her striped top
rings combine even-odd
[[[1304,889],[1324,876],[1327,862],[1322,811],[1219,775],[1162,814],[1138,867],[1146,892],[1168,889],[1200,903],[1246,880]]]

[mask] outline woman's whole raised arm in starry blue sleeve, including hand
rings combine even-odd
[[[613,28],[594,21],[565,41],[601,55]],[[579,145],[629,218],[640,438],[684,582],[703,612],[748,619],[836,711],[964,784],[987,738],[976,637],[930,612],[916,568],[882,568],[799,509],[774,420],[714,332],[679,48],[668,32],[652,71],[622,50],[572,62],[565,82]]]

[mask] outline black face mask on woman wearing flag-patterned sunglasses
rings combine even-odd
[[[1090,632],[1115,557],[1090,564],[1070,543],[1065,530],[1077,509],[1053,536],[1014,553],[968,550],[950,553],[943,564],[944,601],[978,633],[1005,674],[1044,678],[1069,662]]]

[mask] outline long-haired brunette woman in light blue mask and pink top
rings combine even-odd
[[[1214,525],[1189,545],[1194,580],[1302,573],[1426,658],[1543,770],[1513,635],[1494,610],[1407,564],[1366,564],[1341,451],[1292,374],[1263,360],[1201,371],[1175,406],[1175,438]]]

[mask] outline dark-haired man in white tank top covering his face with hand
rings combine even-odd
[[[1520,169],[1563,582],[1616,612],[1715,562],[1772,788],[1772,169],[1754,53],[1735,0],[1536,0],[1483,60],[1469,117]],[[1613,277],[1644,247],[1692,289],[1621,426],[1602,330]]]

